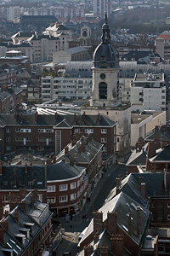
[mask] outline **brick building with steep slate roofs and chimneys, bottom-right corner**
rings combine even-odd
[[[94,212],[78,244],[78,255],[167,255],[169,202],[169,173],[116,178],[116,187],[104,206]]]

